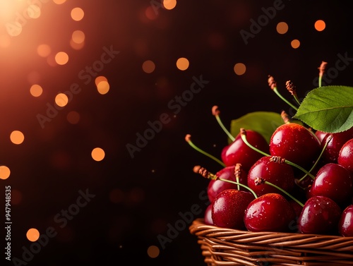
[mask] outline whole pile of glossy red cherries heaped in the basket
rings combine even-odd
[[[193,169],[210,179],[205,224],[353,236],[353,127],[323,133],[285,120],[270,143],[241,128],[221,158],[215,174]]]

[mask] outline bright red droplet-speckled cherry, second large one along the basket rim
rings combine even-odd
[[[245,211],[244,223],[249,231],[292,231],[296,214],[281,194],[268,193],[252,200]]]

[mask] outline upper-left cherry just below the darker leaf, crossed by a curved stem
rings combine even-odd
[[[258,150],[266,153],[269,152],[268,143],[260,133],[246,130],[246,140]],[[244,143],[240,133],[232,143],[223,148],[221,153],[222,162],[224,162],[227,167],[239,163],[245,170],[249,170],[253,163],[262,156],[261,153],[253,150]]]

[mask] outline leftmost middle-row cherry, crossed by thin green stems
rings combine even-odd
[[[220,171],[218,171],[216,173],[216,176],[218,176],[218,178],[220,179],[227,179],[230,181],[237,181],[237,178],[234,174],[234,169],[235,166],[231,166],[231,167],[225,167],[223,169],[221,169]],[[241,174],[239,177],[239,182],[246,185],[247,182],[247,172],[244,170],[241,170]],[[222,181],[222,180],[210,180],[210,183],[208,183],[208,189],[207,189],[207,193],[208,193],[208,199],[212,202],[213,200],[215,200],[216,196],[221,192],[221,191],[225,191],[226,189],[237,189],[238,186],[234,183],[229,183],[227,181]],[[239,186],[239,189],[241,191],[247,191],[246,188]]]

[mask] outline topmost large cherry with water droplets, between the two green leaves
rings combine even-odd
[[[301,167],[308,167],[320,154],[320,141],[298,123],[278,126],[270,138],[270,155],[280,156]]]

